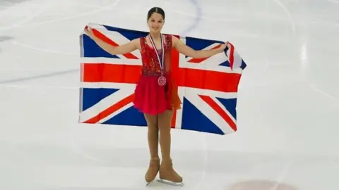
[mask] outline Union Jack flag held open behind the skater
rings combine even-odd
[[[94,34],[113,46],[144,37],[148,32],[89,24]],[[224,42],[179,37],[196,50],[215,49]],[[85,33],[81,42],[79,122],[105,125],[147,126],[143,113],[133,107],[133,93],[141,75],[141,53],[111,55]],[[246,63],[229,44],[225,53],[209,58],[190,58],[172,51],[172,70],[182,109],[172,128],[213,134],[237,130],[237,91]]]

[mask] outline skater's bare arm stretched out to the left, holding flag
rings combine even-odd
[[[98,46],[100,46],[102,49],[104,49],[108,53],[111,53],[112,55],[129,53],[131,51],[139,49],[138,39],[133,39],[131,42],[121,45],[121,46],[112,46],[111,44],[107,44],[106,42],[102,41],[100,38],[95,37],[90,27],[87,27],[85,29],[85,32],[86,34],[88,34],[88,36],[91,39],[94,40],[95,43],[97,43]]]

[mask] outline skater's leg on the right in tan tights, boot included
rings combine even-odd
[[[158,127],[160,131],[160,147],[162,153],[162,163],[160,166],[160,179],[170,182],[182,182],[182,177],[173,170],[171,158],[171,121],[172,110],[158,115]]]

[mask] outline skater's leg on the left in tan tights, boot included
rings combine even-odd
[[[150,164],[147,172],[145,173],[145,181],[149,183],[155,179],[160,167],[160,159],[158,153],[159,129],[157,127],[156,115],[144,115],[148,125],[148,147],[150,149]]]

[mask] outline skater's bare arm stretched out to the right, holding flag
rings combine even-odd
[[[214,56],[217,53],[221,53],[227,46],[226,44],[222,44],[218,49],[209,49],[209,50],[194,50],[191,47],[184,44],[177,37],[172,36],[173,46],[177,51],[183,53],[185,56],[189,56],[191,58],[207,58],[210,56]]]

